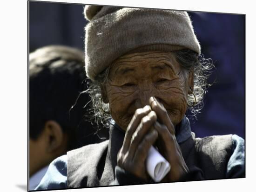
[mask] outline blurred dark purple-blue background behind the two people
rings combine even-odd
[[[29,51],[45,45],[84,49],[84,5],[29,2]],[[204,58],[212,58],[216,83],[204,108],[190,120],[196,136],[245,136],[245,15],[189,12]],[[86,102],[85,102],[86,103]],[[88,124],[89,126],[89,124]]]

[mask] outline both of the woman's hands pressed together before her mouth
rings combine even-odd
[[[189,169],[176,141],[175,127],[162,103],[155,97],[150,97],[149,103],[150,106],[135,111],[117,155],[117,164],[147,182],[150,177],[145,161],[149,148],[155,145],[171,165],[170,172],[161,182],[178,181]]]

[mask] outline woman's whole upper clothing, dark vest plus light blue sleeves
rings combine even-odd
[[[180,181],[245,177],[241,137],[233,134],[195,138],[186,117],[175,128],[175,133],[189,167],[189,173]],[[109,134],[109,141],[81,147],[55,159],[35,190],[145,184],[144,180],[117,166],[116,156],[124,132],[113,122]]]

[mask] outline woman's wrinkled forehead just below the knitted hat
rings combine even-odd
[[[145,71],[164,73],[168,70],[174,74],[180,70],[180,64],[176,61],[174,53],[160,51],[137,52],[125,54],[115,60],[110,66],[110,76],[124,77]]]

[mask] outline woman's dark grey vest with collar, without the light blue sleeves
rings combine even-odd
[[[185,118],[176,130],[176,138],[189,167],[189,173],[180,181],[244,177],[244,167],[238,167],[238,172],[229,173],[229,175],[227,173],[228,161],[234,152],[231,134],[195,138],[195,134],[190,130],[188,119]],[[123,139],[124,132],[113,124],[110,126],[108,141],[69,151],[67,153],[67,187],[145,183],[117,166],[116,157]]]

